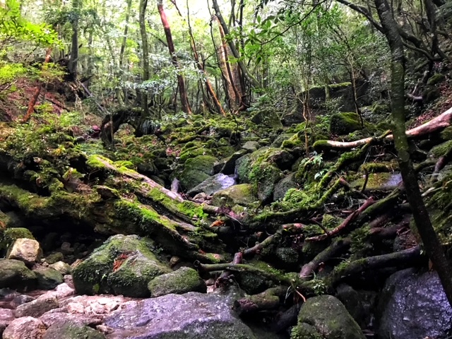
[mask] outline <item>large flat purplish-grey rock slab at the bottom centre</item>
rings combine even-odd
[[[128,339],[251,339],[251,329],[232,311],[234,297],[189,292],[128,302],[105,324],[108,338]]]

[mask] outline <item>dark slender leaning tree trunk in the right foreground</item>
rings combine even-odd
[[[403,41],[388,2],[386,0],[374,1],[391,49],[393,134],[406,196],[410,203],[417,232],[420,234],[427,255],[438,272],[448,301],[452,304],[452,268],[444,255],[441,243],[430,221],[427,208],[424,201],[422,201],[417,176],[410,159],[408,138],[405,133],[405,55]]]

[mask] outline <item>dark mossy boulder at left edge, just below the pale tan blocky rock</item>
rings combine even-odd
[[[36,273],[27,268],[23,261],[0,259],[0,288],[31,291],[35,290],[36,285]]]

